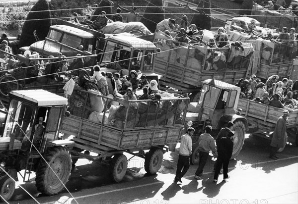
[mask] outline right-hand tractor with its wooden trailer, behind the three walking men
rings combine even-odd
[[[241,151],[245,133],[270,139],[276,121],[283,115],[284,108],[277,108],[252,100],[239,98],[240,88],[222,81],[208,79],[203,82],[198,102],[191,102],[188,107],[186,121],[192,121],[196,132],[193,136],[191,163],[199,162],[198,136],[204,133],[204,127],[211,125],[211,135],[216,137],[222,127],[233,122],[233,153],[235,158]],[[235,114],[242,108],[242,115]],[[290,110],[287,125],[288,141],[298,146],[298,110]],[[280,149],[279,151],[282,151]]]

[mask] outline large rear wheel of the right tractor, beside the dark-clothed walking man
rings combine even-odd
[[[235,132],[233,139],[233,153],[231,158],[235,158],[241,151],[245,139],[245,125],[241,121],[237,121],[231,127],[231,130]]]

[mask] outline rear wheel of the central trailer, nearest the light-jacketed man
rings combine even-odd
[[[145,171],[149,174],[155,174],[161,167],[163,153],[160,149],[152,149],[145,154]]]

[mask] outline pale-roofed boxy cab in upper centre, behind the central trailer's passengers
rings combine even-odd
[[[152,73],[156,47],[152,42],[133,36],[111,36],[106,39],[100,63],[119,71],[128,69]]]

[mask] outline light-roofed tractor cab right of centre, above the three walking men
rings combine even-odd
[[[240,87],[214,79],[205,80],[197,104],[198,120],[210,121],[209,124],[216,128],[223,115],[235,113],[240,92]]]

